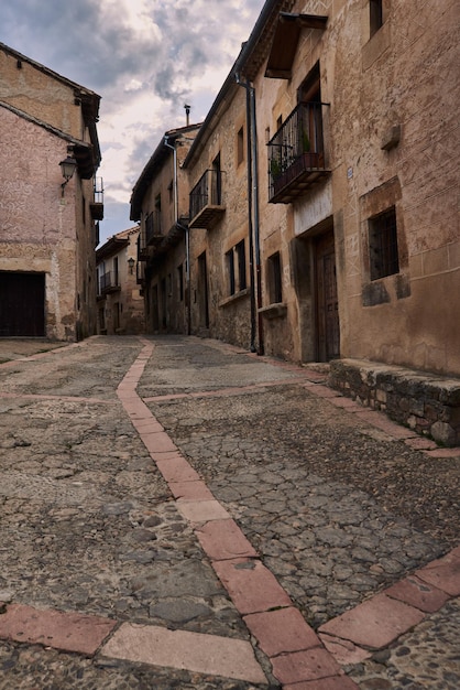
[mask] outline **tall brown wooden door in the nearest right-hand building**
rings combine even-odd
[[[315,239],[318,360],[340,356],[339,300],[336,279],[333,230]]]

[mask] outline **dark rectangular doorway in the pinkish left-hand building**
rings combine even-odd
[[[0,271],[0,336],[45,336],[45,273]]]

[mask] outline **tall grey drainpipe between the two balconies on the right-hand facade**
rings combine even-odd
[[[259,170],[258,170],[258,131],[255,120],[255,89],[249,82],[242,82],[236,72],[236,82],[247,91],[247,130],[248,130],[248,215],[249,246],[251,268],[251,352],[264,354],[262,308],[262,274],[259,219]],[[255,265],[255,271],[254,271]],[[259,346],[255,346],[259,334]]]

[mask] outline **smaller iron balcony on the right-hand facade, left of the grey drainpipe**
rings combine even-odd
[[[223,211],[222,171],[206,170],[190,192],[189,227],[210,227]]]

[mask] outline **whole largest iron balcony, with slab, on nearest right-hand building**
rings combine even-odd
[[[321,103],[300,103],[269,141],[269,200],[288,203],[325,169]]]

